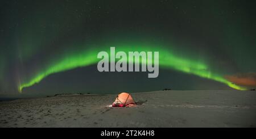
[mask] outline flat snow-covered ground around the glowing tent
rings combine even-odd
[[[256,127],[255,91],[131,94],[136,107],[109,107],[115,95],[64,95],[0,102],[0,127]]]

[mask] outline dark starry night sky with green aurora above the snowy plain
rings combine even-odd
[[[0,96],[256,86],[255,1],[2,1]],[[110,47],[158,51],[159,77],[97,70]]]

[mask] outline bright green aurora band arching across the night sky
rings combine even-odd
[[[109,46],[112,46],[112,45],[109,45]],[[36,74],[32,75],[32,78],[28,79],[28,81],[23,81],[18,83],[18,91],[22,92],[22,90],[25,87],[30,87],[35,85],[35,83],[39,83],[40,81],[42,81],[42,79],[46,78],[50,74],[97,64],[97,62],[100,61],[100,59],[97,58],[97,54],[98,52],[101,52],[103,50],[110,54],[110,47],[89,48],[89,49],[85,49],[84,51],[64,54],[64,56],[62,58],[59,58],[59,60],[48,64],[48,66],[44,70],[41,70]],[[212,71],[209,70],[209,67],[206,64],[204,64],[204,62],[191,60],[190,58],[181,58],[181,57],[175,56],[174,54],[171,53],[171,50],[167,48],[163,48],[163,47],[155,48],[155,47],[149,47],[149,46],[144,47],[141,45],[140,47],[116,45],[115,52],[117,51],[123,51],[126,53],[129,51],[138,51],[138,52],[158,51],[159,52],[159,68],[173,69],[173,70],[181,71],[183,73],[197,75],[201,78],[207,78],[213,81],[224,83],[225,85],[228,85],[229,87],[232,87],[233,89],[236,89],[236,90],[247,90],[245,87],[241,87],[241,86],[235,85],[232,82],[229,82],[221,74],[212,73]]]

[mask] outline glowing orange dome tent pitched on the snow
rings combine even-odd
[[[131,95],[127,92],[122,92],[115,98],[115,101],[113,102],[113,107],[130,107],[134,106],[136,103],[134,102],[133,98],[131,98]]]

